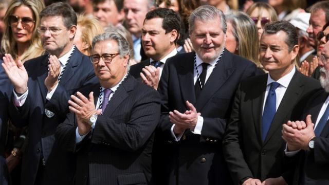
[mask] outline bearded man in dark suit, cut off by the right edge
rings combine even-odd
[[[303,107],[301,120],[283,125],[287,142],[287,161],[298,161],[292,184],[329,183],[329,43],[319,55],[320,84],[324,88],[314,94]],[[291,119],[293,120],[293,119]],[[295,119],[300,120],[300,119]]]

